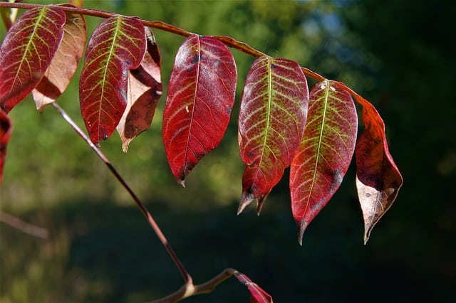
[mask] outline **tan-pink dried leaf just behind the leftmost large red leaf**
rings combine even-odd
[[[78,68],[78,62],[83,56],[84,46],[86,46],[86,20],[83,15],[66,13],[63,30],[61,45],[58,47],[51,65],[41,82],[32,91],[36,109],[40,112],[66,90]]]

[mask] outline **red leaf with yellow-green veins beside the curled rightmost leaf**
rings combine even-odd
[[[291,209],[301,245],[304,230],[341,185],[355,151],[357,128],[351,94],[332,81],[316,83],[301,147],[290,167]]]

